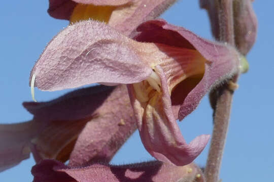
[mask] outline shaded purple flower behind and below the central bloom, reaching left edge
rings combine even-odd
[[[31,121],[0,124],[0,171],[17,165],[30,152],[36,162],[109,162],[136,129],[125,87],[93,86],[50,102],[23,103],[33,114]]]

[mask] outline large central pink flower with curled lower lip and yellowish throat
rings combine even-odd
[[[191,113],[214,85],[239,72],[239,54],[164,20],[145,22],[136,30],[132,40],[104,23],[70,25],[47,45],[30,82],[50,91],[96,82],[127,84],[147,151],[161,161],[189,164],[210,136],[187,144],[176,119]]]

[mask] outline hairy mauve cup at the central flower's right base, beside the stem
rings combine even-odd
[[[138,41],[162,43],[197,50],[205,61],[202,79],[181,99],[179,119],[182,120],[198,106],[201,98],[215,85],[229,79],[239,71],[238,52],[227,44],[205,40],[182,27],[167,24],[164,20],[152,20],[141,24],[135,36]],[[195,77],[193,78],[195,79]],[[197,81],[195,81],[197,82]],[[184,83],[183,83],[184,84]],[[192,84],[193,85],[193,84]],[[187,86],[189,87],[189,86]],[[184,88],[181,86],[180,88]],[[180,93],[180,92],[176,92]],[[172,98],[177,98],[172,96]],[[175,103],[176,101],[173,101]]]

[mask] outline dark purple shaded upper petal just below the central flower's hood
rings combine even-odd
[[[40,121],[72,121],[95,116],[96,109],[115,87],[104,85],[82,88],[49,102],[24,102],[23,106]]]

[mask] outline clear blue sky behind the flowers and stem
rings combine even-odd
[[[220,178],[228,181],[271,181],[274,172],[274,1],[254,1],[258,18],[257,41],[247,56],[248,73],[239,79],[233,98],[231,121],[222,161]],[[32,119],[23,107],[31,101],[28,77],[47,42],[66,27],[68,22],[47,14],[48,1],[3,1],[0,7],[0,123],[16,123]],[[199,9],[198,0],[179,0],[162,16],[169,23],[183,26],[196,34],[212,39],[207,13]],[[38,101],[48,101],[67,93],[40,92]],[[212,109],[208,96],[197,110],[179,123],[190,142],[195,136],[212,133]],[[0,144],[1,145],[1,144]],[[204,165],[207,148],[195,160]],[[142,162],[153,159],[144,149],[135,132],[113,158],[113,164]],[[0,173],[0,181],[31,181],[32,156],[19,165]]]

